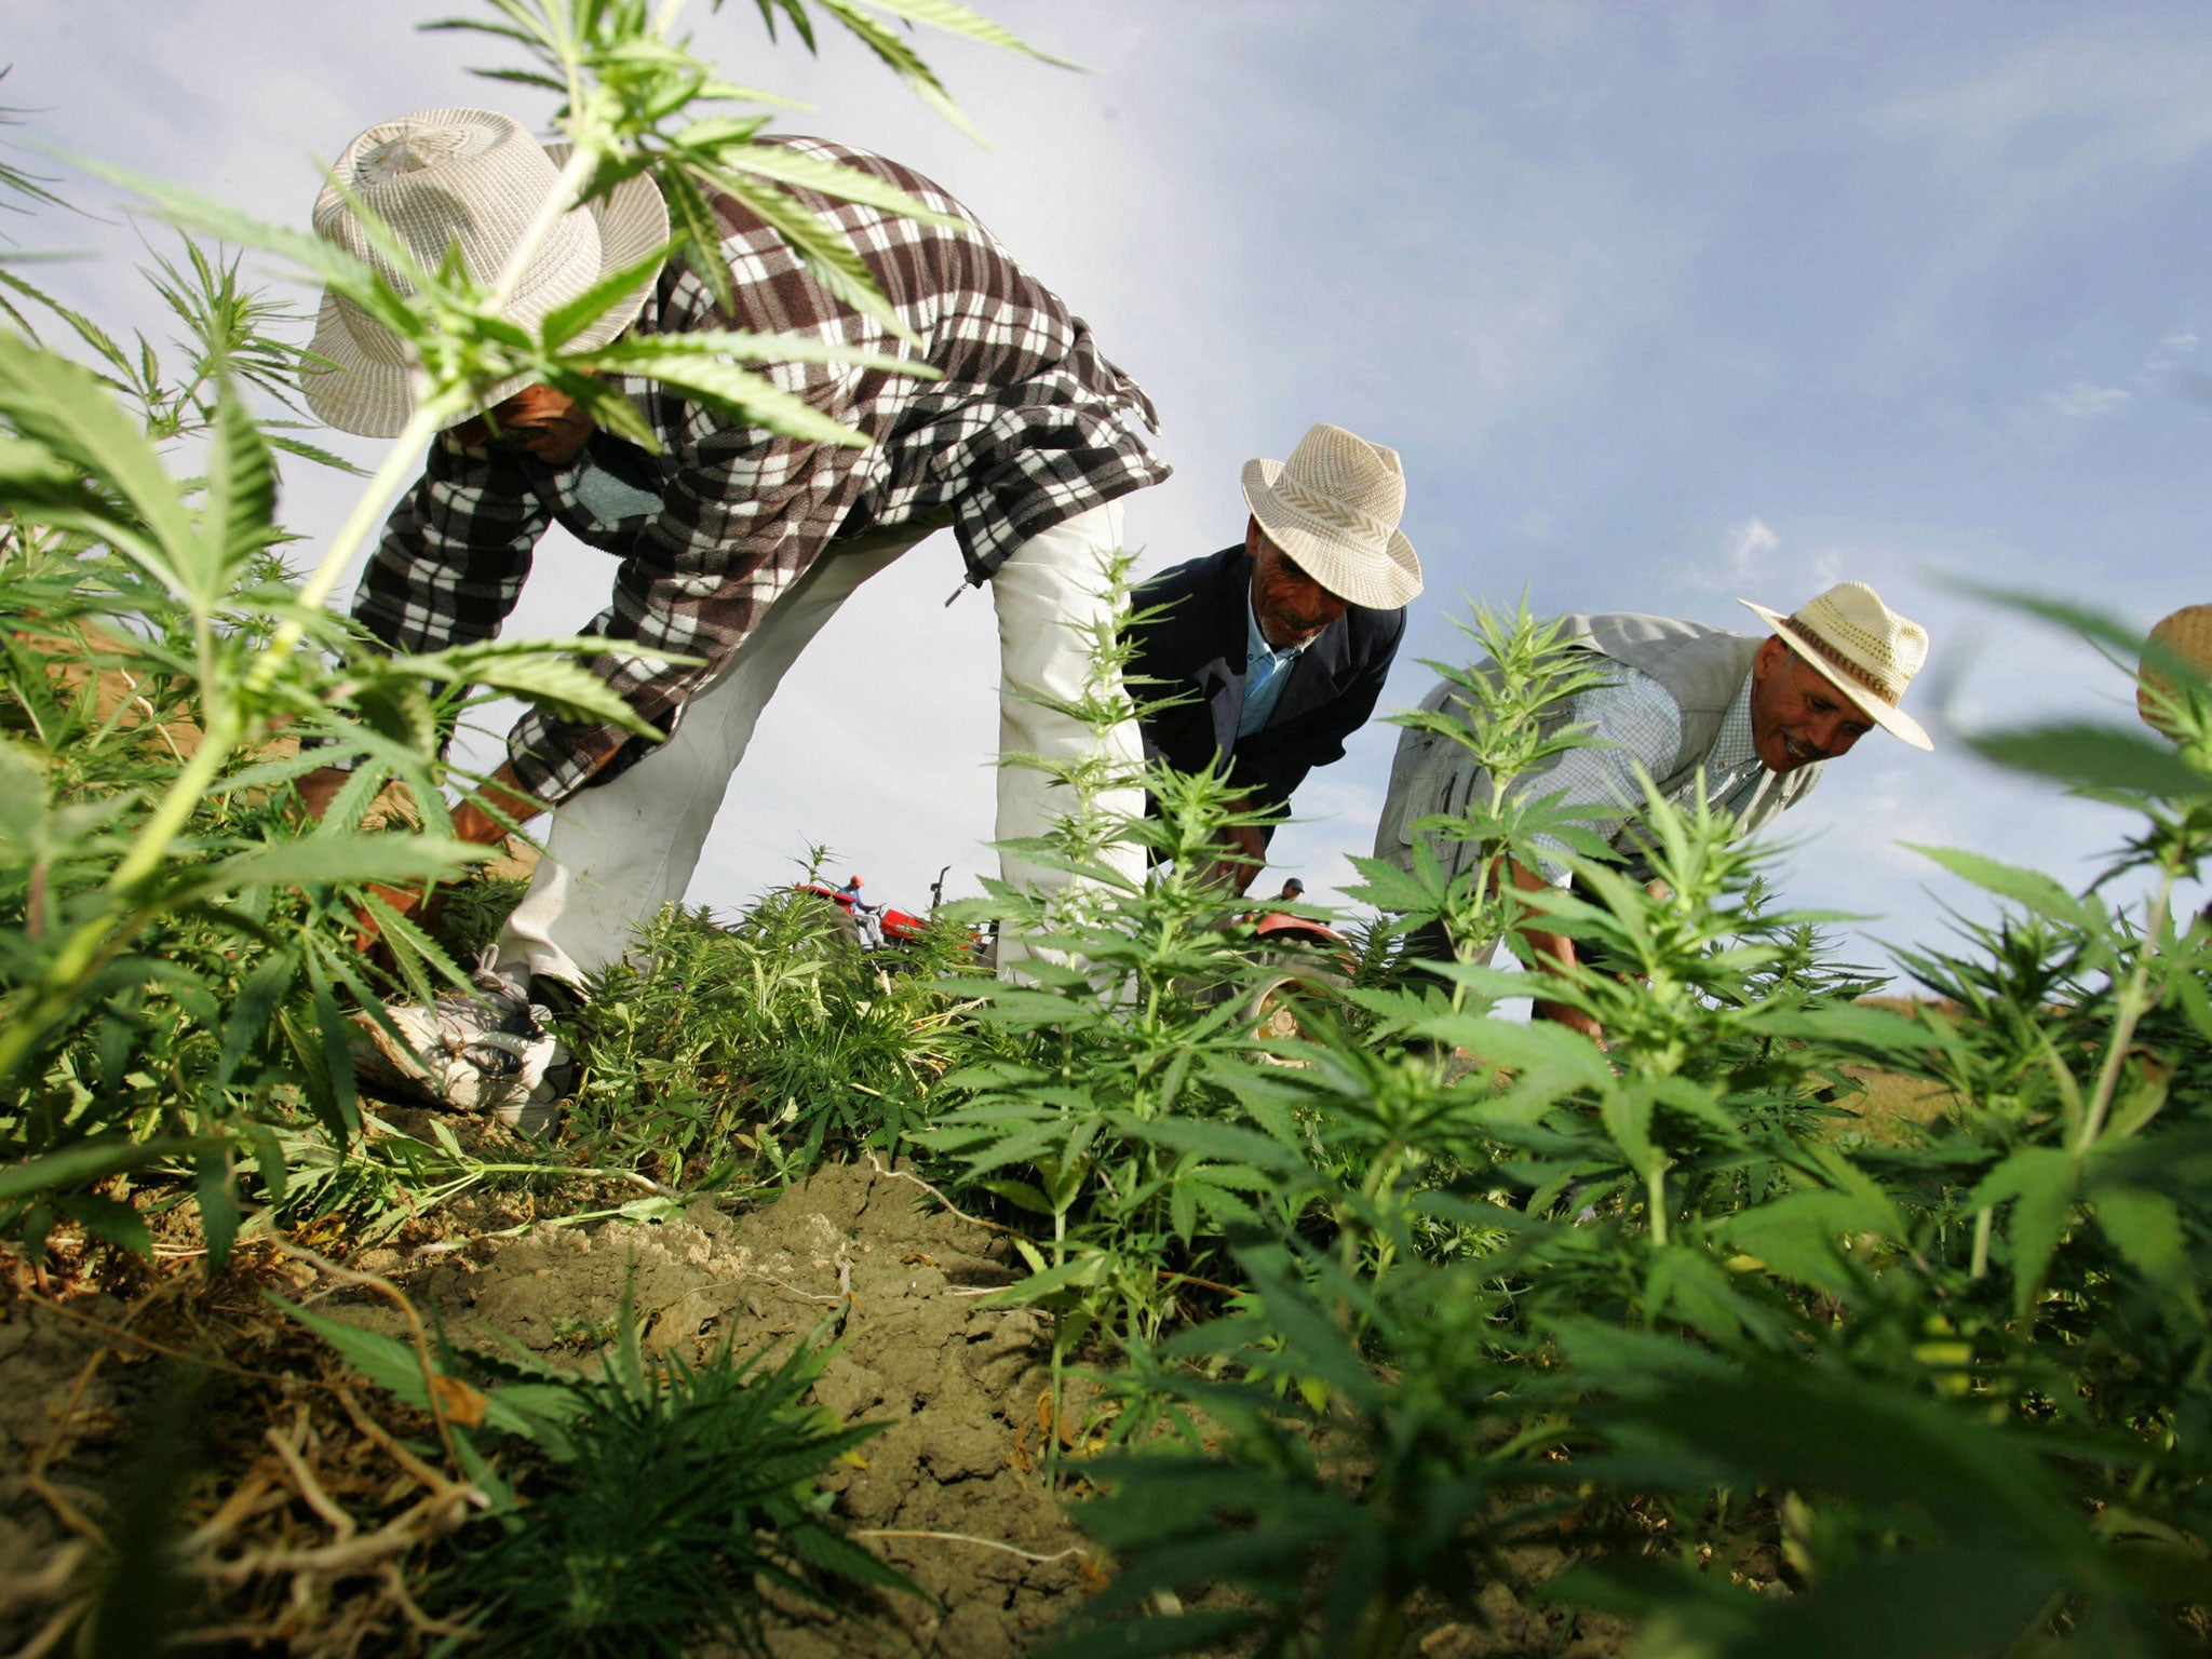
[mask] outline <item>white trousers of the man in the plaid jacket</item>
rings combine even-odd
[[[502,969],[526,969],[568,984],[622,960],[661,905],[681,900],[708,830],[745,759],[752,728],[785,670],[867,577],[936,526],[900,526],[832,544],[779,597],[721,672],[684,703],[675,734],[622,776],[580,790],[553,814],[546,856],[531,889],[500,933]],[[991,577],[998,608],[1000,754],[1075,759],[1093,748],[1082,721],[1031,699],[1077,701],[1091,672],[1084,628],[1106,613],[1099,593],[1106,555],[1121,546],[1121,507],[1093,507],[1022,542]],[[1137,721],[1113,728],[1119,765],[1139,754]],[[1124,799],[1126,796],[1126,799]],[[998,838],[1040,836],[1073,801],[1042,772],[998,772]],[[1141,812],[1139,792],[1117,792],[1113,812]],[[1115,847],[1115,865],[1141,876],[1141,852]],[[1053,869],[1000,858],[1015,885],[1051,891],[1068,883]],[[1000,942],[1000,969],[1022,949]]]

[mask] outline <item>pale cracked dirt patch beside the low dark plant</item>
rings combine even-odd
[[[1048,1321],[958,1294],[1013,1276],[984,1228],[945,1214],[914,1181],[836,1166],[743,1217],[699,1203],[686,1221],[653,1228],[540,1228],[480,1261],[447,1256],[409,1292],[436,1305],[458,1343],[491,1349],[500,1338],[568,1354],[599,1343],[626,1283],[646,1343],[686,1358],[723,1336],[752,1354],[827,1321],[841,1349],[814,1398],[845,1420],[889,1425],[858,1449],[860,1467],[823,1475],[845,1522],[1055,1555],[1084,1540],[1031,1464]],[[781,1659],[1011,1659],[1084,1595],[1075,1555],[1029,1562],[914,1537],[869,1546],[942,1610],[889,1597],[867,1628],[783,1606],[770,1624]]]

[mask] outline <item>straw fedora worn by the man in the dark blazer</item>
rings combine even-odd
[[[1290,460],[1248,460],[1243,493],[1267,540],[1345,604],[1396,611],[1420,593],[1396,449],[1318,425]]]

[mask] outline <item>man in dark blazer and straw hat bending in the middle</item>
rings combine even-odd
[[[1374,714],[1420,593],[1398,451],[1318,425],[1287,462],[1245,462],[1243,495],[1239,546],[1137,588],[1139,617],[1159,615],[1137,622],[1128,670],[1139,703],[1183,699],[1144,714],[1146,757],[1183,772],[1225,761],[1263,818],[1228,832],[1221,876],[1239,894],[1305,774],[1343,759]]]

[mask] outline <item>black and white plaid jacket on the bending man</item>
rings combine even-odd
[[[878,155],[821,139],[781,142],[876,173],[964,221],[927,226],[799,192],[867,261],[920,336],[920,354],[823,292],[781,237],[730,199],[717,199],[717,215],[737,314],[723,314],[697,274],[670,265],[633,332],[799,332],[920,356],[942,378],[847,363],[765,369],[785,392],[867,434],[867,449],[779,438],[637,378],[619,389],[659,434],[659,456],[606,431],[568,467],[438,438],[361,577],[354,617],[369,633],[396,650],[493,637],[538,540],[560,520],[622,560],[613,604],[591,633],[706,659],[701,668],[613,653],[593,659],[630,708],[668,730],[684,699],[834,540],[951,509],[969,575],[980,582],[1031,535],[1168,476],[1150,449],[1159,425],[1150,398],[967,208]],[[509,737],[509,759],[522,785],[553,803],[626,743],[615,726],[533,710]]]

